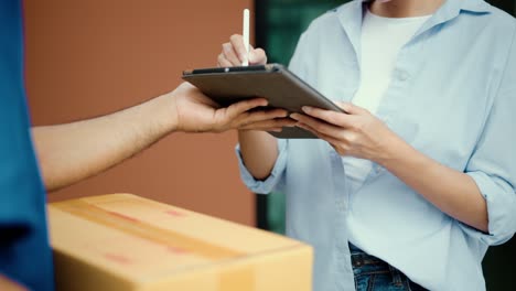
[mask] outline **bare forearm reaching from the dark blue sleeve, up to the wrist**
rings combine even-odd
[[[95,175],[136,154],[174,129],[170,94],[108,116],[33,128],[49,191]]]

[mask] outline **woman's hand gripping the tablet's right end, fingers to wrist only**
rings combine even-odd
[[[401,139],[366,109],[350,103],[340,104],[346,112],[303,107],[305,115],[292,114],[297,126],[327,141],[341,155],[374,162],[389,158]]]

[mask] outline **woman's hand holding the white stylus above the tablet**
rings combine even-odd
[[[229,42],[223,44],[223,51],[218,55],[219,67],[241,66],[246,58],[249,60],[249,65],[267,64],[267,55],[261,48],[252,48],[249,45],[249,54],[244,45],[244,37],[239,34],[233,34]]]

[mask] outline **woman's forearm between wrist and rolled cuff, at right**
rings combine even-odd
[[[395,140],[390,149],[378,163],[443,213],[488,231],[485,198],[469,175],[438,163],[402,140]]]

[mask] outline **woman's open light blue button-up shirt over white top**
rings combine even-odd
[[[291,71],[330,99],[350,101],[359,85],[364,9],[357,0],[316,19],[291,60]],[[485,290],[487,247],[516,230],[515,32],[512,17],[482,0],[448,0],[399,52],[377,110],[413,148],[476,182],[488,234],[378,164],[351,190],[341,157],[322,140],[278,140],[265,181],[240,159],[252,192],[286,194],[287,234],[315,249],[314,290],[354,289],[351,237],[427,289]]]

